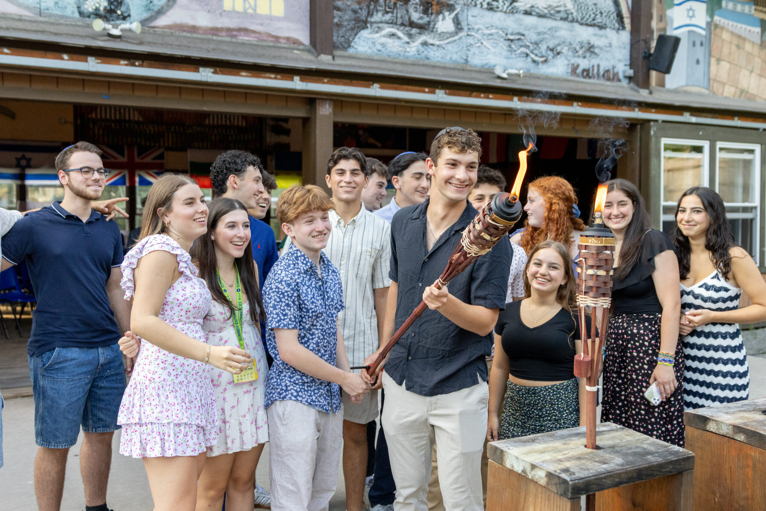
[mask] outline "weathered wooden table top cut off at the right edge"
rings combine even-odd
[[[683,424],[766,450],[766,398],[686,411]]]

